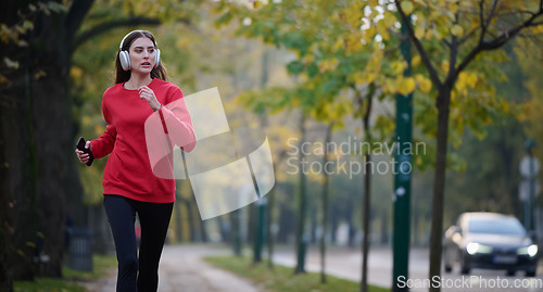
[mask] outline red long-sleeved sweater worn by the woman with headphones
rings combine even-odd
[[[195,137],[185,101],[178,101],[184,98],[181,90],[157,78],[148,87],[162,103],[159,114],[163,129],[160,130],[185,137],[182,149],[190,152],[195,145]],[[96,158],[111,153],[103,174],[103,193],[142,202],[174,202],[175,180],[159,178],[151,169],[144,131],[146,120],[154,113],[149,103],[140,99],[138,90],[117,84],[103,93],[102,113],[109,125],[102,136],[91,141],[91,150]]]

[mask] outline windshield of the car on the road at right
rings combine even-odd
[[[471,219],[469,232],[504,236],[525,236],[526,230],[515,218]]]

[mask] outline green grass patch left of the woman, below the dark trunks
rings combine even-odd
[[[113,256],[93,255],[92,271],[73,270],[66,266],[62,268],[64,279],[36,278],[35,281],[15,281],[14,292],[85,292],[85,288],[75,281],[90,281],[104,277],[109,269],[117,265]]]

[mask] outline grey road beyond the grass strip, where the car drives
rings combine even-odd
[[[543,267],[540,265],[535,278],[526,278],[523,272],[506,277],[505,270],[473,269],[463,276],[458,267],[451,274],[442,271],[442,277],[430,281],[428,277],[429,253],[426,249],[413,249],[409,253],[409,277],[400,284],[411,291],[428,291],[429,285],[440,284],[442,291],[543,291]],[[306,270],[320,271],[320,256],[316,247],[310,249]],[[294,266],[292,249],[279,249],[274,261],[277,264]],[[326,271],[339,278],[359,281],[362,279],[362,252],[357,249],[332,247],[326,257]],[[392,251],[387,247],[370,250],[368,257],[368,282],[380,287],[392,287]]]

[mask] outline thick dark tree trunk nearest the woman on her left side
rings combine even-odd
[[[35,33],[36,37],[41,37],[36,41],[42,47],[33,52],[34,68],[46,74],[33,79],[31,94],[39,230],[43,234],[43,252],[50,256],[43,274],[51,277],[62,276],[66,213],[72,213],[72,217],[85,214],[83,206],[76,204],[77,198],[81,196],[81,187],[74,154],[72,101],[65,84],[71,66],[71,43],[63,37],[65,27],[61,20],[53,14],[41,18],[36,25],[40,29]]]

